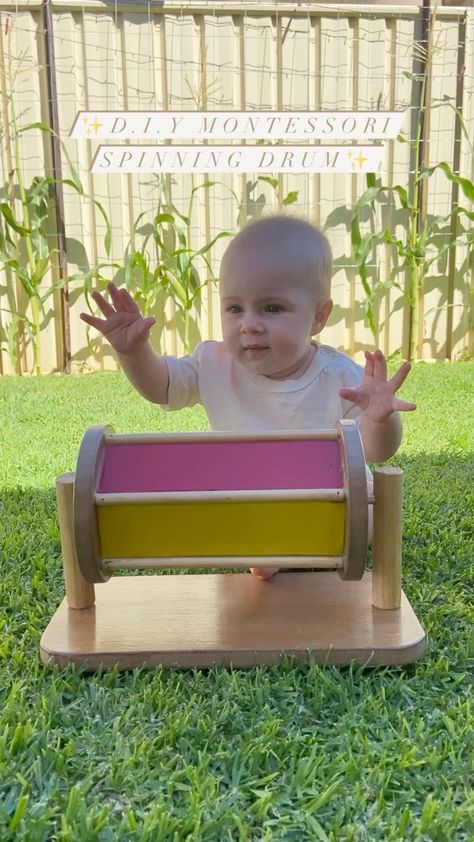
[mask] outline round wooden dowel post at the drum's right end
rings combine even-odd
[[[402,573],[400,468],[374,470],[374,497],[372,603],[376,608],[399,608]]]

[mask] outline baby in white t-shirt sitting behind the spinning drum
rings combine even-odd
[[[398,400],[409,363],[390,380],[381,351],[366,352],[365,369],[312,339],[331,310],[331,249],[311,224],[287,216],[251,223],[231,241],[221,263],[222,342],[201,342],[185,357],[159,356],[125,289],[108,285],[109,303],[93,293],[105,319],[81,318],[115,349],[133,386],[166,409],[201,403],[213,430],[329,429],[357,418],[368,461],[397,450]],[[270,578],[278,568],[252,568]]]

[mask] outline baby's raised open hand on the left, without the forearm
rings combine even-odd
[[[92,298],[105,319],[99,319],[89,313],[81,313],[81,319],[99,330],[119,354],[133,354],[147,341],[155,319],[143,318],[126,289],[118,289],[115,284],[110,283],[107,284],[107,290],[112,300],[111,304],[100,292],[92,293]]]

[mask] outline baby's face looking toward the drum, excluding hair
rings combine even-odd
[[[316,291],[289,260],[253,248],[223,262],[221,322],[227,352],[254,374],[298,377],[314,353]]]

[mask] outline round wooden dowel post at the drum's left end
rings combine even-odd
[[[86,582],[77,561],[74,541],[74,474],[56,477],[59,531],[63,555],[64,584],[70,608],[90,608],[95,602],[94,585]]]

